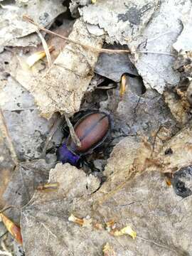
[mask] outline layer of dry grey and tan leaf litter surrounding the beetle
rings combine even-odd
[[[75,21],[56,18],[65,2],[36,4],[1,4],[3,22],[16,16],[0,32],[1,206],[17,207],[5,215],[21,220],[26,255],[191,255],[190,1],[73,0]],[[60,36],[42,30],[42,47],[23,14]],[[49,46],[51,62],[29,68]],[[46,154],[60,114],[86,107],[113,123],[89,175]]]

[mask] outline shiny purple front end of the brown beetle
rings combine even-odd
[[[57,155],[58,161],[61,161],[63,164],[70,163],[74,166],[78,163],[78,160],[80,159],[80,156],[70,151],[65,143],[58,148]]]

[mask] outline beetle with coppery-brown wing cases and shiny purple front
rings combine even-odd
[[[58,161],[63,164],[77,165],[81,156],[91,154],[107,139],[111,129],[110,115],[105,112],[90,112],[85,114],[74,126],[75,134],[81,142],[77,146],[69,135],[68,139],[58,148]]]

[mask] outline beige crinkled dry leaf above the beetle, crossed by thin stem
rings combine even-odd
[[[75,22],[69,38],[89,46],[102,47],[102,38],[90,36],[81,19]],[[73,114],[79,110],[82,96],[92,78],[97,56],[98,53],[92,50],[69,43],[43,75],[38,73],[31,77],[28,74],[31,70],[26,68],[21,58],[20,67],[11,75],[35,97],[43,117],[50,118],[54,112]]]

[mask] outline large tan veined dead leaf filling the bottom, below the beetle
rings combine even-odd
[[[58,164],[50,171],[49,182],[58,181],[60,183],[58,191],[49,195],[36,192],[31,203],[22,210],[23,243],[28,255],[32,255],[34,243],[36,247],[33,248],[33,255],[41,255],[41,252],[53,249],[54,255],[58,255],[61,251],[66,255],[71,251],[75,256],[95,255],[95,252],[100,254],[103,245],[109,241],[114,252],[122,256],[126,256],[127,252],[138,255],[142,253],[144,256],[149,253],[157,255],[164,252],[165,255],[175,256],[192,250],[190,239],[186,240],[185,244],[181,241],[183,234],[191,232],[191,210],[183,207],[183,201],[180,201],[174,191],[166,186],[159,169],[155,171],[156,166],[150,169],[146,167],[142,174],[127,180],[122,188],[114,191],[117,188],[115,179],[118,180],[119,176],[127,174],[127,169],[129,170],[133,161],[136,162],[135,156],[139,161],[139,154],[134,151],[134,146],[131,144],[134,138],[129,137],[124,140],[122,146],[129,145],[129,151],[122,149],[124,154],[117,154],[120,144],[117,146],[116,154],[114,152],[112,158],[108,160],[106,169],[107,176],[110,174],[113,178],[108,178],[92,195],[86,193],[88,177],[81,170],[69,164]],[[139,148],[141,144],[136,142],[136,145]],[[113,174],[114,165],[110,164],[110,161],[115,161],[113,160],[115,156],[116,161],[121,163],[119,166],[122,166],[122,169],[119,173]],[[112,191],[114,193],[111,193]],[[107,194],[105,201],[93,209],[92,204],[97,201],[97,198]],[[186,198],[188,206],[191,205],[191,200],[191,197]],[[103,228],[82,228],[74,225],[68,220],[71,213],[74,216],[89,215],[93,223],[95,220],[97,223],[115,220],[118,223],[117,230],[120,230],[119,227],[126,227],[127,220],[129,223],[137,223],[137,239],[132,240],[128,235],[122,235],[117,240]],[[183,229],[181,231],[183,223],[188,223],[184,225],[184,232]],[[174,240],[167,239],[170,235]],[[79,244],[74,250],[76,240]]]

